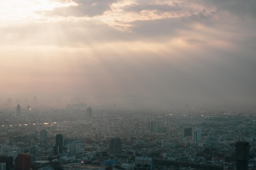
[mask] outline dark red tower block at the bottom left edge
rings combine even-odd
[[[24,153],[20,153],[15,159],[15,170],[30,170],[31,157]]]

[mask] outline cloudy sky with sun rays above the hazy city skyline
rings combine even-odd
[[[0,94],[256,101],[255,0],[0,1]]]

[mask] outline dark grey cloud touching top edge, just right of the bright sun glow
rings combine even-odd
[[[101,15],[105,11],[111,10],[110,5],[117,0],[74,0],[78,6],[58,7],[52,11],[38,11],[46,16],[95,16]]]

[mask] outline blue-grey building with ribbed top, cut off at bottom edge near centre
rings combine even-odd
[[[153,170],[153,156],[136,155],[132,170]]]

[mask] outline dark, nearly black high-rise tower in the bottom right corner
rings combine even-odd
[[[236,170],[248,170],[249,142],[236,143]]]

